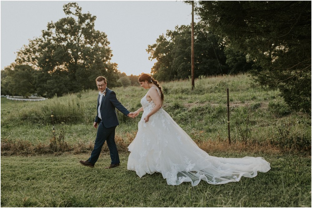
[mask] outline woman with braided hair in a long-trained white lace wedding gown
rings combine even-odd
[[[163,110],[163,92],[149,74],[141,74],[139,83],[149,89],[141,99],[143,111],[138,133],[128,146],[128,170],[139,177],[146,173],[161,173],[169,185],[201,180],[210,184],[236,182],[255,177],[257,172],[270,170],[270,163],[261,157],[219,158],[200,149],[184,130]]]

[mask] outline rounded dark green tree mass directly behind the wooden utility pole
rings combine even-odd
[[[227,73],[224,45],[201,22],[194,25],[195,77]],[[148,45],[149,59],[157,62],[152,73],[159,81],[188,78],[191,75],[191,26],[176,26]]]

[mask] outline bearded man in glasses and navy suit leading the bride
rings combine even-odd
[[[95,79],[96,85],[99,89],[99,96],[97,99],[97,116],[93,126],[98,127],[94,149],[91,152],[91,156],[88,160],[80,160],[82,165],[94,167],[94,164],[100,156],[101,149],[106,141],[110,150],[111,164],[106,168],[115,168],[119,166],[119,155],[117,146],[115,143],[115,128],[119,125],[116,108],[124,115],[133,117],[133,113],[130,113],[116,98],[114,91],[106,87],[106,78],[99,76]],[[99,125],[99,126],[98,126]]]

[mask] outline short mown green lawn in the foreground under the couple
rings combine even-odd
[[[241,157],[248,153],[232,153]],[[127,170],[127,153],[121,166],[101,154],[95,168],[79,164],[89,154],[59,156],[2,156],[2,207],[311,207],[311,157],[292,154],[262,156],[271,170],[239,182],[196,187],[184,182],[167,185],[160,173],[139,178]],[[245,156],[246,156],[245,155]],[[213,156],[224,157],[218,153]]]

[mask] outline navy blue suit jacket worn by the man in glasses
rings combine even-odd
[[[96,112],[99,107],[100,95],[97,99]],[[119,125],[117,118],[116,108],[122,112],[124,115],[128,115],[130,112],[117,100],[116,93],[109,88],[106,88],[106,94],[102,98],[100,112],[102,123],[105,128],[110,128]],[[100,123],[101,119],[96,113],[94,122]]]

